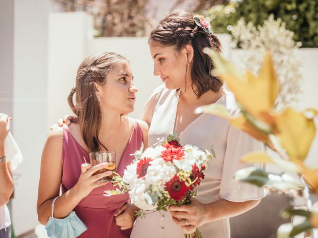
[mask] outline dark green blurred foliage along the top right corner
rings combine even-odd
[[[212,31],[229,33],[241,17],[254,26],[262,25],[270,14],[286,23],[302,47],[318,47],[317,0],[237,0],[216,5],[203,13],[210,18]]]

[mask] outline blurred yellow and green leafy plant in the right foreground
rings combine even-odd
[[[213,60],[215,69],[212,73],[226,81],[235,94],[241,115],[234,118],[223,105],[218,104],[200,107],[196,112],[228,119],[233,126],[263,141],[279,155],[271,158],[264,152],[250,152],[242,156],[243,162],[275,164],[285,171],[278,175],[249,167],[239,170],[234,179],[280,191],[309,187],[318,196],[318,170],[309,168],[304,162],[316,135],[314,119],[318,117],[318,110],[310,108],[297,112],[290,107],[282,111],[275,109],[279,84],[270,54],[266,55],[259,75],[254,75],[248,70],[242,74],[211,49],[205,49],[205,53]],[[310,207],[308,210],[289,209],[283,214],[285,217],[303,216],[305,221],[297,226],[285,224],[284,229],[278,231],[279,238],[294,237],[318,228],[318,213]]]

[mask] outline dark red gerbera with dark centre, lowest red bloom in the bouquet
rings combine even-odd
[[[184,181],[180,181],[177,175],[174,175],[170,181],[165,183],[165,190],[176,201],[183,199],[189,189],[190,187],[185,185]]]

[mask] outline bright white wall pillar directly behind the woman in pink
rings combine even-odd
[[[67,97],[75,86],[79,64],[88,55],[93,38],[93,21],[83,12],[54,12],[49,15],[48,48],[48,118],[46,127],[72,111]]]

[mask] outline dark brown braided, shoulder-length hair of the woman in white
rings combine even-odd
[[[215,34],[207,33],[195,24],[192,11],[174,11],[161,19],[158,26],[150,33],[148,42],[174,46],[177,51],[187,44],[193,47],[191,87],[198,98],[209,90],[218,92],[222,87],[222,81],[211,75],[211,70],[214,68],[211,58],[203,53],[205,47],[221,52],[221,42]],[[188,65],[185,76],[187,70]],[[197,90],[193,89],[193,85]]]

